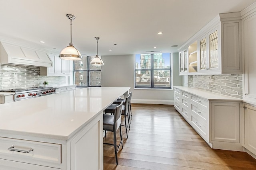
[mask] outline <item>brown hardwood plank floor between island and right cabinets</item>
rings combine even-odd
[[[132,104],[128,139],[122,132],[118,166],[114,147],[104,145],[104,170],[256,170],[246,152],[211,149],[172,105]]]

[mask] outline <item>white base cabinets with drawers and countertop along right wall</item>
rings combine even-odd
[[[243,150],[240,101],[188,87],[174,87],[174,96],[176,110],[210,147]]]

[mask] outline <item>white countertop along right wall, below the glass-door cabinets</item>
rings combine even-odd
[[[242,99],[239,99],[239,98],[233,98],[233,97],[226,96],[223,94],[207,92],[205,90],[200,90],[200,89],[196,89],[196,88],[191,88],[191,87],[186,87],[186,86],[174,86],[174,88],[178,88],[180,90],[194,94],[195,96],[204,98],[206,100],[233,100],[236,102],[242,102]]]

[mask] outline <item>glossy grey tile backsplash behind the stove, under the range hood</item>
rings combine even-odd
[[[65,84],[65,76],[40,76],[39,66],[0,64],[0,89],[43,86],[43,82]]]

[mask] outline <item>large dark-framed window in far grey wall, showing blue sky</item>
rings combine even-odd
[[[134,55],[134,88],[171,88],[171,53]]]

